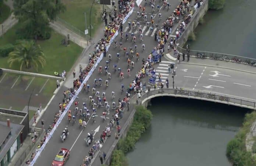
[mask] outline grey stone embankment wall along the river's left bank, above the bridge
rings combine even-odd
[[[189,34],[195,30],[196,26],[198,26],[199,19],[206,14],[207,10],[208,10],[208,0],[205,0],[203,4],[200,6],[200,8],[197,9],[195,14],[193,14],[191,21],[185,27],[185,31],[181,34],[180,38],[176,41],[176,43],[179,44],[180,47],[183,47],[183,45],[186,43],[186,41],[188,40]]]

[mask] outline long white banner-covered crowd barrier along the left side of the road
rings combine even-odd
[[[131,16],[132,12],[134,11],[134,8],[132,8],[132,10],[127,14],[127,16]],[[125,19],[123,20],[123,23],[125,21],[127,21],[128,17],[125,17]],[[110,39],[109,41],[109,45],[107,45],[106,47],[106,51],[109,50],[109,47],[111,45],[111,43],[113,43],[115,37],[117,37],[118,35],[118,31],[115,32],[115,34],[113,35],[113,37]],[[31,161],[30,166],[33,166],[36,162],[36,160],[38,159],[38,157],[40,156],[41,152],[43,151],[43,149],[45,148],[46,144],[48,143],[48,141],[50,140],[50,138],[53,136],[53,133],[55,132],[55,130],[57,129],[58,125],[60,124],[60,122],[62,121],[62,119],[65,117],[67,111],[70,109],[72,103],[75,101],[75,99],[77,98],[77,96],[79,95],[79,93],[81,92],[82,88],[83,88],[83,84],[86,84],[86,82],[89,80],[90,76],[92,75],[93,71],[96,69],[96,67],[98,66],[98,64],[100,63],[100,61],[103,59],[103,53],[100,55],[100,58],[97,60],[97,62],[94,64],[94,66],[92,67],[92,69],[89,71],[88,75],[85,77],[85,79],[83,80],[81,86],[78,88],[77,93],[72,97],[72,99],[70,100],[70,102],[68,103],[68,105],[66,106],[65,110],[63,111],[63,113],[61,114],[60,118],[58,119],[56,125],[53,127],[53,129],[51,130],[51,132],[49,133],[49,135],[46,137],[45,143],[40,147],[40,149],[38,150],[38,152],[36,153],[34,159]],[[54,157],[54,156],[53,156]]]

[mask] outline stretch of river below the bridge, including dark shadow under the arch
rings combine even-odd
[[[127,155],[129,165],[230,165],[226,145],[247,109],[174,97],[154,98],[151,104],[152,125]]]

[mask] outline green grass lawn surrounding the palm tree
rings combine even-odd
[[[0,45],[8,43],[15,44],[15,40],[17,39],[15,32],[19,26],[19,24],[15,25],[8,30],[6,34],[1,36]],[[64,36],[53,30],[49,40],[37,41],[46,56],[46,65],[43,68],[39,67],[38,71],[35,69],[24,69],[24,71],[49,75],[53,75],[54,71],[69,71],[83,49],[73,42],[70,42],[68,47],[61,45],[61,40],[63,38]],[[0,57],[0,67],[19,70],[18,64],[14,64],[12,67],[9,67],[7,60],[8,57]]]

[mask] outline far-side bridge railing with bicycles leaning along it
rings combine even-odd
[[[186,49],[181,48],[177,45],[177,51],[181,54],[187,54]],[[214,60],[224,60],[226,62],[236,62],[243,64],[250,64],[252,66],[256,66],[256,59],[247,58],[245,56],[238,56],[232,54],[223,54],[218,52],[209,52],[209,51],[198,51],[198,50],[190,50],[190,55],[195,56],[196,58],[201,59],[214,59]]]

